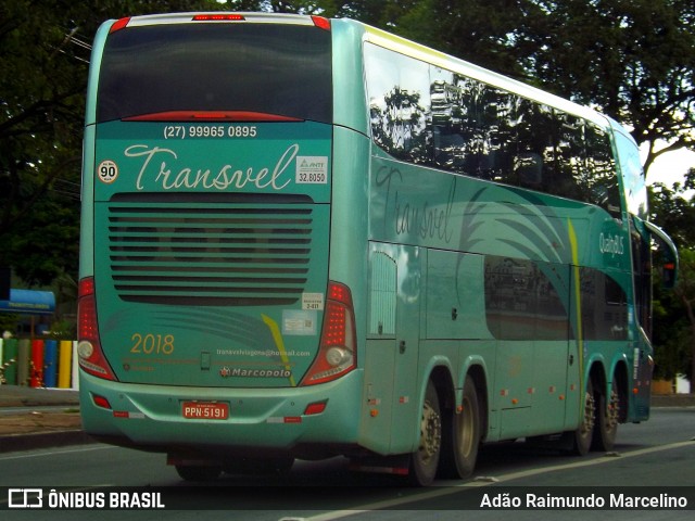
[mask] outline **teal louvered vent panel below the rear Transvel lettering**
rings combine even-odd
[[[112,199],[109,252],[118,296],[199,306],[289,305],[301,298],[312,204],[238,199]]]

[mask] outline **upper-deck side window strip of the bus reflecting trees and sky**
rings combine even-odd
[[[602,206],[620,195],[608,135],[543,103],[366,46],[374,141],[403,161]]]

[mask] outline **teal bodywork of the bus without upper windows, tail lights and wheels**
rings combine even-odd
[[[299,17],[263,23],[286,20]],[[618,206],[403,157],[403,147],[379,142],[370,115],[377,81],[366,62],[380,53],[437,74],[448,64],[536,101],[542,93],[339,20],[330,122],[98,123],[113,23],[93,46],[80,250],[113,378],[81,357],[87,432],[220,461],[408,455],[422,435],[428,382],[447,425],[467,378],[483,442],[578,430],[590,382],[620,407],[620,422],[648,418],[649,304],[635,294],[648,276],[635,275],[635,250],[650,234],[644,178],[620,155],[636,147],[619,125],[544,101],[606,137]],[[429,96],[438,112],[421,125],[456,126],[445,87]],[[419,139],[418,125],[403,143]],[[438,131],[428,147],[448,139]],[[309,384],[329,281],[350,290],[354,367]],[[191,404],[225,404],[228,416],[186,417]]]

